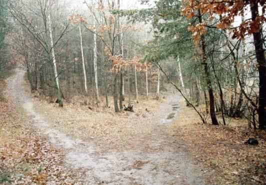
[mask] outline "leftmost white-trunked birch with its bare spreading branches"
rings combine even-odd
[[[51,72],[49,73],[50,79],[54,81],[54,85],[51,85],[51,87],[55,87],[56,89],[56,102],[59,103],[59,106],[63,106],[61,99],[62,91],[58,79],[60,73],[58,73],[56,65],[56,56],[59,52],[56,52],[55,46],[60,43],[61,38],[67,33],[69,24],[65,21],[64,24],[52,25],[51,4],[50,0],[24,1],[23,4],[21,4],[21,1],[10,1],[8,10],[14,20],[22,25],[23,30],[26,31],[25,34],[27,34],[28,40],[30,40],[30,44],[29,42],[25,43],[25,48],[28,50],[26,53],[31,54],[31,62],[28,64],[31,68],[34,66],[33,70],[35,72],[32,73],[34,75],[32,79],[35,80],[35,85],[37,80],[37,65],[45,65],[48,63],[51,66]],[[35,12],[34,16],[32,16],[32,12]],[[56,36],[52,32],[55,27],[58,30],[60,29],[60,32],[57,31]]]

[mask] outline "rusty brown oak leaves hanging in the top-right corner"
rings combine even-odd
[[[207,22],[212,20],[215,15],[220,16],[220,20],[217,22],[216,27],[219,29],[228,29],[232,25],[234,21],[234,17],[240,15],[244,9],[252,6],[253,1],[246,0],[183,0],[185,6],[181,9],[182,15],[186,16],[190,19],[192,16],[201,16],[203,14],[208,15],[208,20],[205,21],[205,26]],[[241,38],[247,32],[248,34],[252,34],[259,30],[260,25],[266,21],[263,12],[265,10],[265,0],[257,0],[256,3],[263,4],[262,5],[262,14],[257,15],[255,20],[244,20],[238,27],[232,29],[233,38]],[[200,12],[200,14],[198,14]],[[195,14],[197,13],[197,14]],[[189,31],[192,32],[193,40],[198,41],[200,36],[205,34],[206,31],[202,26],[190,26],[188,28]]]

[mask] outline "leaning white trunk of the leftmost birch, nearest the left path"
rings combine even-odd
[[[51,47],[52,70],[53,70],[53,76],[54,76],[54,80],[55,80],[55,85],[56,85],[56,88],[57,88],[58,105],[59,106],[63,106],[63,101],[61,99],[61,94],[60,94],[60,89],[59,89],[59,80],[58,80],[58,74],[57,74],[57,69],[56,69],[56,61],[55,61],[55,54],[54,54],[53,40],[52,40],[52,32],[51,32],[50,0],[47,1],[47,4],[48,4],[47,23],[48,23],[49,41],[50,41],[50,47]]]

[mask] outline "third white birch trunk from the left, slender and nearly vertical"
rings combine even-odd
[[[98,92],[98,75],[97,75],[97,35],[96,35],[96,23],[95,18],[93,18],[93,64],[94,64],[94,74],[95,74],[95,91],[96,91],[96,103],[99,102],[99,92]]]

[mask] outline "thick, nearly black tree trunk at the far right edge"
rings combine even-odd
[[[258,16],[258,4],[256,0],[251,1],[250,11],[251,19],[255,21]],[[259,76],[259,92],[258,92],[258,128],[266,129],[266,61],[263,49],[263,40],[261,35],[261,28],[252,33],[256,60],[258,65],[258,76]]]

